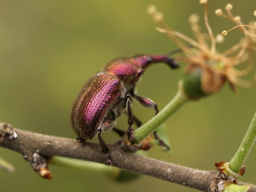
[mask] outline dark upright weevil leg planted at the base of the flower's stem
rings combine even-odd
[[[135,138],[135,135],[133,135],[133,131],[132,131],[132,124],[133,124],[133,116],[132,116],[132,98],[131,95],[128,93],[125,96],[126,99],[126,107],[127,107],[127,113],[128,113],[128,130],[126,135],[128,136],[128,139],[131,141],[131,143],[133,143],[133,139]]]

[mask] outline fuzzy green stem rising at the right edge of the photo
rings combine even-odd
[[[245,134],[244,139],[240,147],[238,148],[237,153],[229,162],[229,168],[233,171],[238,173],[241,167],[244,165],[245,159],[248,157],[250,150],[253,146],[253,143],[256,138],[256,113],[252,119],[252,122],[249,126],[248,131]]]

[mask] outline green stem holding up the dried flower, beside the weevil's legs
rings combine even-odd
[[[171,117],[178,109],[181,108],[188,100],[182,95],[180,90],[176,96],[168,103],[161,112],[153,117],[146,124],[142,125],[139,129],[136,129],[133,133],[136,136],[133,140],[138,144],[142,142],[147,136],[152,134],[161,124],[163,124],[169,117]]]

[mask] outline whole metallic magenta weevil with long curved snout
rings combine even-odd
[[[92,139],[98,134],[102,152],[106,154],[106,165],[111,165],[109,148],[102,139],[101,133],[115,130],[120,135],[122,131],[114,128],[116,117],[125,112],[128,114],[128,130],[125,134],[133,140],[132,124],[135,121],[139,127],[140,121],[133,116],[131,110],[132,97],[147,108],[158,113],[157,104],[151,99],[136,93],[136,83],[144,70],[154,63],[166,63],[171,68],[178,68],[178,64],[168,55],[138,55],[116,59],[108,63],[103,70],[94,75],[83,87],[75,100],[71,112],[72,127],[78,134],[78,139]],[[158,138],[159,144],[165,144]],[[167,146],[166,146],[167,147]]]

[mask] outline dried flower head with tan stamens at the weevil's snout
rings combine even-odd
[[[240,31],[245,35],[245,37],[241,39],[241,41],[236,45],[232,46],[230,49],[223,53],[219,53],[216,50],[216,43],[223,42],[224,38],[222,35],[227,35],[230,30],[223,31],[222,35],[218,34],[215,38],[208,22],[208,3],[207,1],[200,0],[200,4],[205,5],[204,23],[208,30],[208,36],[201,33],[199,26],[199,16],[196,14],[193,14],[189,17],[189,23],[195,36],[195,40],[178,31],[170,29],[170,27],[167,26],[162,20],[158,22],[161,25],[161,28],[157,27],[158,31],[166,33],[170,38],[172,38],[185,54],[185,56],[176,57],[176,60],[184,61],[189,64],[185,69],[185,73],[190,76],[199,76],[198,85],[200,86],[200,91],[202,91],[202,94],[200,96],[187,95],[188,98],[196,99],[205,95],[216,93],[219,89],[221,89],[226,81],[229,82],[233,91],[236,91],[234,86],[235,84],[243,87],[252,86],[252,82],[242,80],[240,76],[248,74],[253,66],[252,51],[256,50],[256,30],[253,26],[254,24],[244,25],[241,22],[240,16],[233,16],[230,11],[233,9],[232,4],[227,4],[225,7],[227,15],[223,14],[221,9],[217,9],[215,11],[217,16],[223,16],[225,18],[231,19],[236,24],[236,27],[233,29],[238,27]],[[248,29],[251,29],[251,31]],[[210,42],[208,37],[210,37]],[[185,45],[184,41],[191,44],[192,48],[191,45]],[[236,65],[245,63],[247,61],[249,61],[249,64],[245,69],[238,70],[235,68]],[[185,82],[183,79],[183,91],[186,89],[187,83],[188,82]],[[195,90],[197,88],[193,87],[193,89]],[[185,90],[185,92],[186,91],[187,90]]]

